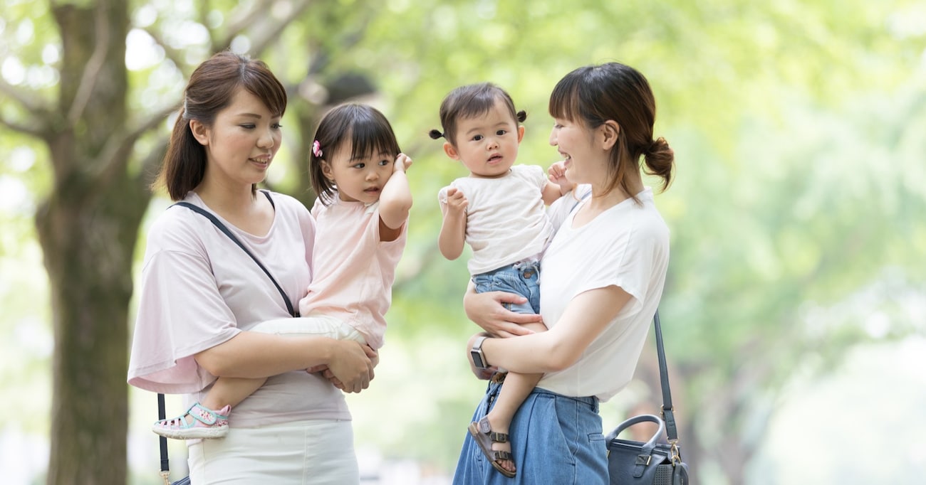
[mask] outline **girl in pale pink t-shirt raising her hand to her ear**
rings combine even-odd
[[[299,300],[300,317],[265,321],[260,333],[351,339],[378,350],[392,303],[395,266],[405,249],[412,160],[399,149],[389,121],[375,108],[348,103],[324,115],[312,143],[309,176],[319,195],[312,208],[316,244],[312,282]],[[324,366],[332,384],[344,389]],[[198,403],[177,418],[157,421],[168,438],[221,438],[232,407],[266,379],[219,377]],[[351,392],[351,390],[345,390]]]

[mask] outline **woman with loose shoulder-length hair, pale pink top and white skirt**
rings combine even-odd
[[[235,407],[223,439],[188,442],[194,484],[357,483],[344,394],[307,370],[327,368],[344,391],[360,392],[376,353],[354,340],[251,331],[294,316],[313,275],[306,207],[257,191],[280,149],[286,92],[264,63],[223,52],[196,68],[184,94],[159,182],[250,254],[189,207],[159,215],[148,231],[129,383],[186,394],[183,418],[196,426],[229,418],[196,406],[219,377],[267,379]]]

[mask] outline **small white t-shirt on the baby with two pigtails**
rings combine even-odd
[[[466,242],[472,249],[470,275],[539,256],[553,236],[543,190],[547,178],[537,165],[514,165],[507,176],[466,176],[450,185],[467,201]],[[447,200],[447,188],[438,194]]]

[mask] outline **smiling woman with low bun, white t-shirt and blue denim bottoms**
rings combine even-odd
[[[469,318],[491,335],[472,338],[470,364],[543,373],[510,426],[514,479],[504,478],[467,435],[456,484],[608,483],[598,404],[631,381],[669,264],[669,229],[645,188],[644,170],[669,186],[673,152],[653,139],[656,102],[649,84],[618,63],[580,67],[550,96],[555,124],[550,144],[565,161],[576,197],[551,207],[557,234],[541,260],[540,310],[549,329],[503,304],[515,295],[476,293],[464,300]],[[493,379],[474,421],[497,401],[504,380]],[[492,430],[485,430],[491,437]]]

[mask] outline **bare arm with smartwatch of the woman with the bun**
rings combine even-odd
[[[559,321],[547,332],[486,339],[482,342],[486,363],[522,373],[567,369],[630,299],[627,292],[613,285],[581,293],[569,301]]]

